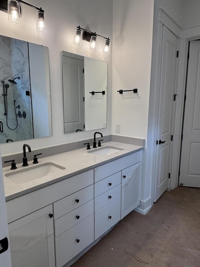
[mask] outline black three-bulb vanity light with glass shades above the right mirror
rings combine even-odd
[[[83,34],[82,34],[82,30],[83,30]],[[108,54],[110,53],[110,39],[109,37],[106,38],[102,35],[97,34],[96,32],[90,32],[86,29],[83,29],[79,26],[77,26],[77,29],[74,31],[74,37],[73,37],[73,44],[74,45],[81,45],[81,35],[82,35],[82,39],[84,41],[88,41],[90,42],[89,45],[89,49],[90,50],[97,50],[98,47],[98,36],[106,39],[103,45],[103,50],[102,53],[103,54]]]

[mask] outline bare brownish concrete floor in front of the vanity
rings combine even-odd
[[[72,267],[200,267],[200,190],[166,191],[129,213]]]

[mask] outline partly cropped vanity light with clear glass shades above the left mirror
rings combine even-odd
[[[26,4],[32,8],[38,10],[36,14],[36,31],[40,33],[47,32],[47,22],[46,15],[42,8],[37,8],[29,3],[26,3],[22,0],[8,0],[8,21],[13,24],[21,23],[21,7],[20,3]]]

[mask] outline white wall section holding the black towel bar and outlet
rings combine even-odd
[[[153,3],[113,1],[112,133],[147,138]],[[138,88],[138,93],[118,90]]]

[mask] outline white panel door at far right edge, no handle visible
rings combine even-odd
[[[179,185],[200,187],[200,41],[190,42]]]

